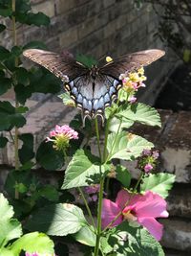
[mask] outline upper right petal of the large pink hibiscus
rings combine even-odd
[[[158,194],[147,191],[136,204],[136,214],[138,218],[167,218],[166,201]]]

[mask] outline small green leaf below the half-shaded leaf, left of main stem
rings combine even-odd
[[[73,235],[74,240],[81,244],[94,247],[96,245],[96,234],[93,230],[93,226],[85,225],[81,227],[81,229]]]

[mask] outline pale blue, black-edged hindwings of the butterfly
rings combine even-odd
[[[91,117],[103,113],[105,106],[111,105],[120,87],[120,81],[106,75],[97,75],[95,79],[84,75],[65,84],[77,106]]]

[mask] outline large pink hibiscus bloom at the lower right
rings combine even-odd
[[[129,203],[125,206],[128,200]],[[144,195],[131,196],[126,190],[120,190],[116,202],[103,199],[102,228],[113,221],[120,212],[122,214],[112,226],[116,226],[124,220],[138,221],[156,240],[161,239],[163,226],[156,218],[167,218],[168,212],[166,211],[166,201],[158,194],[147,191]]]

